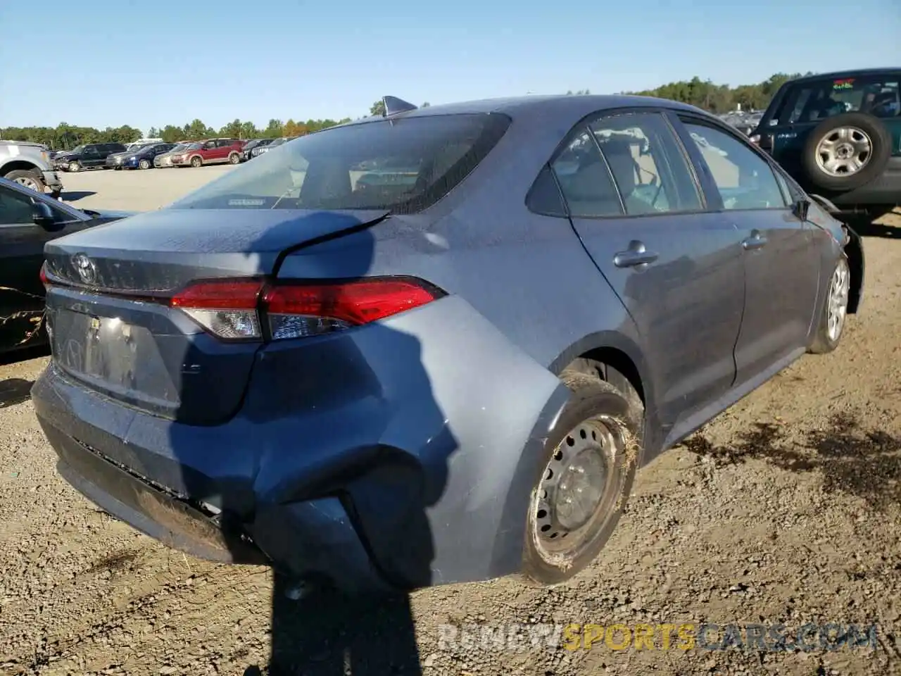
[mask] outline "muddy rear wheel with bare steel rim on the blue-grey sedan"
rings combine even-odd
[[[613,534],[641,455],[639,416],[610,383],[566,371],[569,404],[545,445],[523,544],[523,577],[539,585],[569,580]]]

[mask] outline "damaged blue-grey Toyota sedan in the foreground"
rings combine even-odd
[[[860,238],[711,114],[385,104],[47,243],[32,398],[87,498],[311,585],[553,585],[857,311]]]

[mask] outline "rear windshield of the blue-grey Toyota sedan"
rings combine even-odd
[[[509,124],[505,115],[453,114],[332,127],[260,155],[170,208],[411,214],[466,178]]]

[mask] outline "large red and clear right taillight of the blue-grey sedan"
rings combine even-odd
[[[303,338],[369,324],[431,303],[441,292],[416,279],[360,279],[325,284],[259,279],[197,282],[170,305],[220,338],[260,339],[261,324],[273,340]]]

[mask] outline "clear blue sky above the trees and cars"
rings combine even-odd
[[[901,65],[899,0],[0,0],[0,127],[359,117]]]

